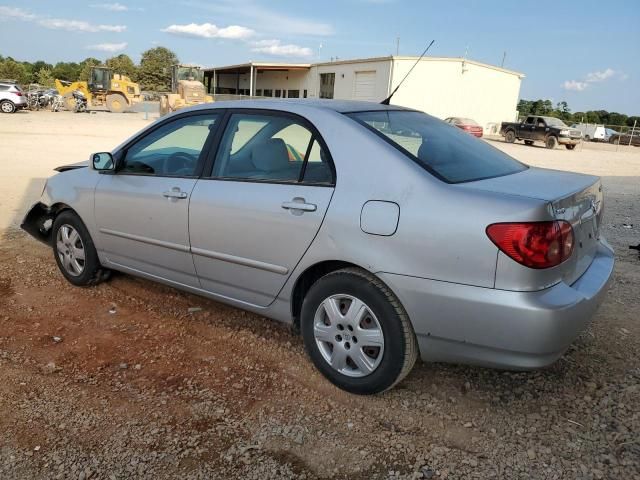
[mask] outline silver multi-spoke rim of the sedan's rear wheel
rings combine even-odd
[[[384,355],[380,322],[362,300],[351,295],[332,295],[320,303],[313,335],[322,358],[349,377],[370,375]]]

